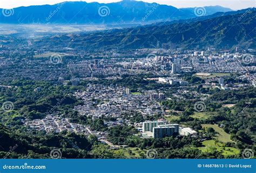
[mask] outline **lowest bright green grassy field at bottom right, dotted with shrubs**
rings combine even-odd
[[[214,150],[221,152],[224,156],[238,155],[240,151],[233,147],[224,147],[223,143],[215,142],[214,140],[207,140],[202,142],[204,147],[198,147],[202,152],[211,153]]]

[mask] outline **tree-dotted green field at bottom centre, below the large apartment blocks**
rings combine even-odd
[[[140,148],[122,148],[113,150],[114,155],[123,156],[124,158],[142,158],[146,154],[146,150]]]

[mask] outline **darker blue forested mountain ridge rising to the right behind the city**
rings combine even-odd
[[[256,48],[255,8],[188,21],[95,33],[56,35],[38,41],[37,46],[44,46],[49,42],[50,47],[65,46],[84,50],[162,48],[163,44],[171,48]]]

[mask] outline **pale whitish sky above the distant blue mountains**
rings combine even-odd
[[[79,1],[79,0],[0,0],[0,8],[12,9],[18,6],[29,6],[29,5],[44,5],[44,4],[56,4],[64,1]],[[121,0],[86,0],[89,2],[99,2],[99,3],[111,3],[119,2]],[[233,10],[246,9],[249,7],[256,6],[256,0],[144,0],[144,2],[158,4],[172,5],[176,8],[187,8],[195,6],[210,6],[210,5],[220,5]]]

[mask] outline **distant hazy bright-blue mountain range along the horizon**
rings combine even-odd
[[[222,6],[177,9],[170,5],[121,1],[116,3],[63,2],[55,5],[34,5],[0,9],[4,24],[150,24],[160,21],[189,19],[232,11]]]

